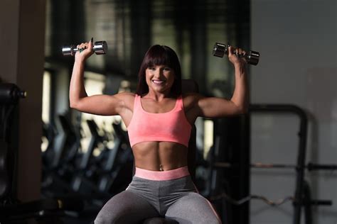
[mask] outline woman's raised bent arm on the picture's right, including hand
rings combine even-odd
[[[245,55],[242,49],[236,49],[239,55]],[[232,47],[228,49],[228,58],[235,68],[235,89],[230,100],[218,97],[198,96],[198,116],[208,118],[219,118],[247,113],[249,105],[246,60],[238,57],[232,52]]]

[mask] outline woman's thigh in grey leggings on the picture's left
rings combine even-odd
[[[139,223],[156,215],[159,214],[144,198],[131,191],[122,191],[105,203],[95,224]]]

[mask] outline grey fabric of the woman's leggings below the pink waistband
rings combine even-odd
[[[167,181],[133,177],[127,190],[105,203],[95,224],[132,224],[152,217],[171,218],[180,224],[221,223],[187,176]]]

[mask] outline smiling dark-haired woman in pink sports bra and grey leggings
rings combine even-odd
[[[247,111],[247,74],[241,49],[229,60],[235,67],[232,99],[181,94],[181,67],[176,53],[154,45],[139,70],[136,94],[87,96],[85,60],[92,40],[77,46],[70,81],[70,107],[98,115],[119,115],[127,125],[136,171],[122,193],[103,206],[95,223],[139,223],[166,217],[178,223],[220,223],[210,203],[197,193],[187,168],[188,140],[198,116],[219,118]]]

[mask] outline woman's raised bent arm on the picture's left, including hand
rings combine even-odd
[[[85,61],[92,55],[92,40],[89,43],[77,45],[77,48],[85,48],[82,52],[75,53],[75,62],[73,66],[73,74],[70,79],[69,100],[70,108],[85,113],[93,113],[97,115],[117,115],[123,113],[127,107],[126,101],[133,98],[131,93],[109,95],[87,96],[84,86],[84,69]]]

